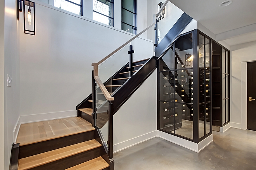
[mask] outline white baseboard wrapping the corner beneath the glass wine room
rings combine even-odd
[[[189,150],[195,151],[199,153],[201,150],[203,150],[206,146],[208,146],[210,143],[213,142],[213,135],[211,134],[204,140],[202,140],[200,143],[194,143],[192,141],[188,141],[186,139],[179,138],[177,136],[164,133],[162,131],[157,131],[157,136],[159,138],[165,139],[167,141],[170,141],[172,143],[175,143],[176,145],[180,145],[184,148],[187,148]]]

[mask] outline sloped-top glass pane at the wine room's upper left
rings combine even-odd
[[[160,70],[173,70],[173,46],[164,54],[160,60]]]

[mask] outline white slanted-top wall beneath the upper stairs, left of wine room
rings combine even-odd
[[[156,136],[156,85],[157,70],[136,90],[135,93],[113,116],[114,152]],[[107,127],[102,134],[107,141]]]

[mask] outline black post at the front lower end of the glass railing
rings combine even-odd
[[[113,158],[113,101],[109,100],[109,140],[107,144],[109,145],[109,159]]]

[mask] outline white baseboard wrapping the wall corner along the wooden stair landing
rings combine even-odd
[[[74,116],[76,116],[76,110],[20,116],[13,131],[14,142],[16,142],[21,124],[39,121],[49,121],[53,119],[62,119]]]

